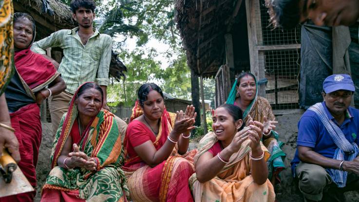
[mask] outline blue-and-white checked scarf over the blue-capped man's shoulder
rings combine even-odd
[[[311,106],[308,110],[314,111],[319,116],[333,142],[337,145],[338,148],[335,150],[333,159],[343,161],[344,152],[346,152],[349,153],[348,161],[353,161],[359,153],[358,145],[354,142],[349,143],[341,129],[333,122],[333,120],[329,120],[328,115],[324,110],[323,104],[317,103]],[[348,176],[347,171],[332,168],[328,168],[327,171],[338,187],[345,187],[346,179]]]

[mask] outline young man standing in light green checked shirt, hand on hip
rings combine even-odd
[[[45,55],[58,68],[67,85],[66,91],[49,98],[54,134],[62,115],[68,110],[74,92],[84,82],[94,81],[101,86],[104,92],[103,108],[109,109],[106,89],[109,84],[112,38],[100,34],[93,27],[95,17],[93,0],[72,0],[70,7],[78,27],[72,30],[59,30],[35,42],[31,47],[32,51],[43,55],[46,54],[47,48],[63,49],[64,57],[60,64]]]

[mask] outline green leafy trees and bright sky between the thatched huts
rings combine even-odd
[[[71,0],[62,1],[69,5]],[[113,49],[128,70],[123,82],[108,86],[108,96],[116,98],[109,105],[132,106],[139,86],[146,82],[157,83],[176,98],[190,100],[190,71],[175,27],[175,0],[95,0],[95,3],[94,27],[113,37]],[[125,47],[129,38],[136,43],[131,51]],[[168,51],[159,53],[147,47],[151,39],[167,44]],[[167,58],[168,62],[158,61],[158,56]],[[206,80],[204,88],[205,99],[212,100],[214,105],[212,81]]]

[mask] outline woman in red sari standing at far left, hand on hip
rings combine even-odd
[[[26,13],[14,14],[15,74],[5,90],[11,126],[19,140],[19,168],[32,186],[36,186],[35,166],[41,142],[39,105],[51,94],[66,89],[54,65],[42,55],[30,51],[35,39],[35,20]],[[46,88],[48,86],[48,88]],[[31,202],[36,192],[0,198],[0,202]]]

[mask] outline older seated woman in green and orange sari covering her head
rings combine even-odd
[[[57,129],[53,169],[41,202],[126,201],[121,136],[113,114],[101,110],[102,104],[103,92],[96,83],[77,89]]]

